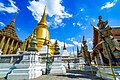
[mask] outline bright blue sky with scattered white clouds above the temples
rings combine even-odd
[[[18,11],[15,29],[24,41],[40,21],[45,5],[51,41],[58,39],[61,47],[65,41],[69,52],[77,45],[80,47],[83,35],[91,50],[90,22],[96,26],[99,15],[108,20],[110,26],[120,26],[119,0],[0,0],[0,29],[9,24]]]

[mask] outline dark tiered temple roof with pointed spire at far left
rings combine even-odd
[[[3,29],[0,30],[0,35],[7,36],[14,40],[20,41],[20,39],[18,38],[18,36],[16,34],[16,30],[15,30],[15,26],[14,26],[15,20],[16,20],[16,14],[15,14],[13,20],[10,22],[10,24],[8,24],[6,27],[4,27]]]

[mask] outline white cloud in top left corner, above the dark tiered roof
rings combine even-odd
[[[19,10],[19,8],[15,5],[15,2],[12,0],[8,0],[10,4],[9,6],[5,6],[4,3],[0,2],[0,11],[8,12],[8,13],[15,13]]]

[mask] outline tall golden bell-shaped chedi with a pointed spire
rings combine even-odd
[[[49,34],[49,31],[48,31],[48,25],[47,25],[47,22],[46,22],[46,7],[44,9],[44,13],[43,13],[43,16],[40,20],[40,22],[38,23],[38,25],[36,26],[35,30],[36,30],[36,39],[37,39],[37,46],[36,48],[39,50],[45,39],[47,42],[50,42],[50,34]]]

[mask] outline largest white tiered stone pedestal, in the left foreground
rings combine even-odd
[[[8,74],[8,80],[28,80],[42,75],[36,52],[24,52],[22,61],[15,64],[15,67],[16,69]]]

